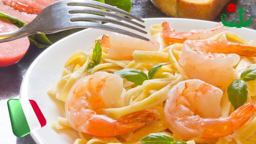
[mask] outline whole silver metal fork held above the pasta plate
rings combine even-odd
[[[84,21],[84,20],[96,20],[96,21],[113,23],[113,24],[121,25],[127,28],[134,29],[138,32],[147,34],[147,32],[135,26],[120,22],[112,18],[99,16],[99,15],[105,15],[105,16],[113,17],[119,20],[123,20],[125,22],[134,24],[142,28],[145,28],[145,26],[131,19],[122,17],[118,14],[111,13],[108,11],[103,11],[95,7],[106,9],[108,11],[112,11],[130,18],[133,18],[140,22],[144,22],[142,19],[126,11],[123,11],[122,9],[116,8],[108,4],[104,4],[104,3],[100,3],[92,0],[62,0],[62,1],[55,2],[49,5],[48,7],[46,7],[45,9],[43,9],[38,14],[38,16],[26,26],[12,32],[0,33],[0,43],[19,39],[32,34],[51,34],[51,33],[56,33],[63,30],[72,29],[72,28],[97,28],[97,29],[103,29],[103,30],[108,30],[112,32],[133,36],[133,37],[140,38],[147,41],[149,40],[148,38],[134,34],[127,30],[123,30],[121,28]],[[93,15],[93,14],[98,14],[98,15]]]

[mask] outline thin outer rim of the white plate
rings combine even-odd
[[[210,22],[210,23],[215,23],[215,24],[218,24],[218,22],[213,22],[213,21],[208,21],[208,20],[199,20],[199,19],[188,19],[188,18],[170,18],[170,17],[157,17],[157,18],[141,18],[143,20],[151,20],[151,19],[166,19],[166,20],[190,20],[190,21],[198,21],[198,22]],[[142,23],[143,24],[143,23]],[[106,23],[105,25],[112,25],[111,23]],[[79,33],[83,33],[84,31],[87,31],[87,30],[90,30],[90,29],[93,29],[93,28],[87,28],[87,29],[84,29],[84,30],[81,30],[79,32],[76,32],[76,33],[73,33],[69,36],[66,36],[60,40],[58,40],[57,42],[55,42],[54,44],[52,44],[51,46],[49,46],[48,48],[46,48],[42,53],[40,53],[36,58],[35,60],[31,63],[31,65],[28,67],[24,77],[23,77],[23,80],[22,80],[22,83],[20,85],[20,92],[19,92],[19,99],[24,99],[24,98],[27,98],[25,94],[22,93],[23,91],[23,88],[25,87],[25,80],[27,79],[27,77],[29,77],[29,74],[31,72],[31,70],[33,69],[33,67],[35,66],[35,64],[38,62],[38,60],[45,54],[47,53],[50,49],[52,49],[53,47],[55,47],[55,45],[58,45],[59,43],[65,41],[66,39],[68,39],[69,37],[72,37],[74,35],[77,35]],[[242,27],[241,29],[248,29],[248,30],[251,30],[251,31],[254,31],[256,33],[256,30],[254,29],[250,29],[250,28],[246,28],[246,27]],[[37,143],[37,144],[43,144],[43,142],[40,140],[40,138],[38,138],[38,135],[34,132],[31,132],[30,133],[30,136],[33,138],[33,140]]]

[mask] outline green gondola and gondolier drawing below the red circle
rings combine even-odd
[[[247,8],[246,8],[247,9]],[[234,19],[232,22],[227,22],[223,19],[227,17],[226,14],[222,14],[220,17],[221,17],[221,22],[224,26],[227,26],[227,27],[237,27],[237,28],[241,28],[241,27],[247,27],[247,26],[250,26],[250,23],[251,23],[251,20],[252,20],[252,16],[246,21],[246,22],[243,22],[243,12],[246,10],[242,10],[242,7],[239,7],[239,11],[238,11],[238,14],[239,16],[237,18],[239,18],[239,23],[234,23],[235,20],[237,19]]]

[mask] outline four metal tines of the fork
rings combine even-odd
[[[118,15],[118,14],[121,14],[121,15],[127,16],[129,18],[133,18],[135,20],[138,20],[139,22],[144,23],[144,20],[142,20],[142,19],[140,19],[122,9],[116,8],[116,7],[108,5],[108,4],[92,1],[92,0],[66,0],[66,3],[68,6],[69,14],[71,15],[71,19],[70,19],[71,22],[82,21],[82,20],[96,20],[96,21],[102,21],[102,22],[108,22],[108,23],[121,25],[121,26],[124,26],[127,28],[134,29],[138,32],[147,34],[146,31],[141,30],[140,28],[137,28],[137,27],[129,25],[127,23],[123,23],[123,22],[113,19],[113,18],[116,18],[116,19],[123,20],[128,23],[131,23],[133,25],[145,28],[145,26],[143,26],[142,24],[139,24],[131,19],[128,19],[126,17]],[[103,10],[97,9],[97,8],[106,9],[108,11],[112,11],[112,12],[115,12],[118,14],[111,13],[108,11],[103,11]],[[98,15],[93,15],[93,14],[98,14]],[[108,17],[103,17],[103,16],[99,16],[99,15],[104,15],[104,16],[108,16]],[[108,26],[108,28],[111,28],[108,30],[113,31],[114,27]],[[131,32],[127,33],[128,31],[126,33],[124,33],[125,30],[121,31],[121,29],[119,30],[119,28],[114,28],[114,29],[115,29],[115,31],[122,32],[123,34],[126,34],[126,35],[134,36],[134,37],[137,37],[137,38],[140,38],[143,40],[149,40],[145,37],[136,35]]]

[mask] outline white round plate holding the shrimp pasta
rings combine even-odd
[[[161,24],[164,20],[179,32],[210,28],[217,24],[216,22],[180,18],[147,18],[144,20],[148,38],[151,38],[150,26]],[[114,26],[113,24],[108,25]],[[118,27],[130,30],[121,26]],[[248,28],[229,28],[229,30],[239,34],[248,42],[251,39],[256,40],[255,30]],[[70,144],[78,138],[78,133],[72,129],[56,131],[51,127],[51,123],[57,121],[58,116],[65,117],[65,110],[62,103],[49,97],[46,91],[60,78],[67,58],[77,50],[87,51],[95,38],[103,34],[108,34],[108,32],[89,28],[63,38],[42,52],[28,68],[20,88],[20,98],[35,100],[47,121],[45,127],[30,134],[37,144]]]

